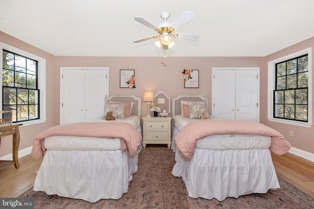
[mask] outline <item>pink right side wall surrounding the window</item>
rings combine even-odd
[[[260,112],[260,122],[276,129],[282,133],[285,138],[290,142],[292,147],[314,153],[314,126],[311,128],[305,128],[301,126],[293,126],[284,123],[277,123],[267,120],[267,91],[262,91],[267,89],[267,64],[269,61],[284,57],[286,55],[295,53],[297,51],[312,47],[312,88],[314,87],[314,37],[300,42],[296,45],[289,46],[283,50],[277,51],[264,57],[261,65],[261,112]],[[309,89],[309,94],[312,94],[312,99],[314,101],[314,91]],[[312,101],[312,108],[314,108]],[[314,122],[314,111],[312,116],[312,122]],[[289,131],[293,131],[293,137],[289,136]]]

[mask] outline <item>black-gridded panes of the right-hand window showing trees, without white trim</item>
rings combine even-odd
[[[308,54],[276,64],[274,117],[308,122]]]

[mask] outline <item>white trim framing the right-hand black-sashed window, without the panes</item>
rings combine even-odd
[[[293,59],[298,56],[302,56],[304,54],[308,54],[308,64],[309,64],[309,92],[308,92],[308,122],[301,122],[301,121],[293,121],[287,119],[280,119],[273,117],[273,91],[275,90],[275,73],[276,73],[276,63],[284,62],[289,59]],[[276,60],[272,60],[268,62],[268,116],[267,119],[269,121],[279,122],[279,123],[286,123],[290,125],[296,126],[303,126],[307,128],[312,127],[312,47],[303,49],[301,51],[295,52],[293,54],[289,54],[287,56],[278,58]]]

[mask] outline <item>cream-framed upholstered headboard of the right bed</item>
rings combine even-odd
[[[181,115],[181,101],[205,101],[208,111],[208,96],[204,94],[180,94],[172,96],[172,115]]]

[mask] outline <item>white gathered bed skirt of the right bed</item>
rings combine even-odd
[[[173,148],[176,149],[175,143]],[[177,150],[172,174],[183,178],[188,195],[193,198],[223,201],[280,188],[269,149],[195,149],[190,161]]]

